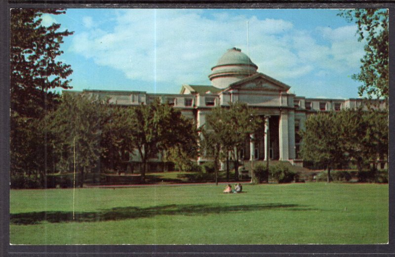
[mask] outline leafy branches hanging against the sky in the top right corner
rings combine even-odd
[[[384,97],[389,94],[389,30],[388,9],[342,10],[339,16],[358,26],[358,41],[365,40],[365,55],[361,59],[360,72],[353,79],[362,82],[359,96],[366,94]]]

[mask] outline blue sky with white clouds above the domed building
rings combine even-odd
[[[237,47],[297,96],[357,97],[363,42],[335,9],[68,9],[45,25],[74,31],[59,60],[73,90],[179,93],[210,85],[211,67]],[[247,21],[249,28],[247,46]]]

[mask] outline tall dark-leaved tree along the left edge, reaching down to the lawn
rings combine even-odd
[[[60,24],[41,24],[42,14],[63,14],[63,9],[10,10],[10,158],[11,177],[46,172],[51,153],[41,119],[56,105],[58,96],[49,91],[68,89],[70,65],[57,61],[63,52]],[[38,175],[39,176],[39,175]],[[45,176],[41,176],[44,178]]]

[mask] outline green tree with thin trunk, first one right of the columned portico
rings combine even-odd
[[[327,182],[331,181],[330,170],[345,160],[335,116],[332,112],[310,115],[306,121],[306,130],[301,131],[302,158],[324,165],[328,170]]]

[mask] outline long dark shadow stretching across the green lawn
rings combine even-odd
[[[288,211],[307,211],[315,210],[306,208],[297,204],[252,204],[252,205],[235,205],[221,206],[209,204],[171,204],[159,205],[148,208],[138,207],[116,207],[112,209],[98,210],[96,212],[76,212],[75,220],[73,220],[73,212],[48,211],[48,212],[29,212],[10,214],[11,224],[29,225],[39,224],[47,221],[50,223],[59,222],[99,222],[99,221],[116,221],[125,219],[148,218],[157,215],[206,215],[206,214],[222,214],[229,212],[241,211],[259,211],[285,209]]]

